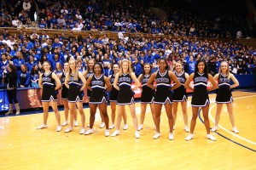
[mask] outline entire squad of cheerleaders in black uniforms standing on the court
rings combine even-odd
[[[89,135],[94,133],[93,126],[95,122],[96,108],[98,107],[100,115],[102,117],[102,123],[100,127],[106,127],[105,136],[110,135],[109,129],[114,129],[111,134],[115,137],[120,134],[120,123],[122,118],[124,119],[124,130],[128,128],[127,115],[125,112],[125,105],[129,105],[132,122],[135,127],[135,138],[139,139],[139,131],[143,129],[143,122],[145,118],[145,112],[147,105],[150,105],[152,117],[154,120],[154,136],[153,139],[160,138],[160,115],[161,108],[164,105],[166,108],[166,115],[169,124],[169,139],[174,139],[172,131],[175,129],[175,122],[177,117],[177,106],[181,104],[183,111],[183,121],[185,124],[184,130],[189,133],[186,140],[194,138],[194,129],[198,111],[201,108],[204,118],[204,124],[207,129],[207,139],[216,140],[216,138],[210,132],[210,122],[208,118],[209,111],[209,97],[208,92],[217,90],[216,103],[217,112],[215,117],[215,126],[212,127],[212,131],[218,130],[218,121],[223,104],[227,105],[227,109],[230,115],[230,122],[234,133],[239,133],[235,126],[234,114],[233,114],[233,99],[230,89],[239,86],[239,82],[236,80],[233,74],[229,71],[227,62],[222,62],[218,74],[212,77],[207,72],[207,63],[205,60],[199,59],[195,65],[195,73],[188,75],[183,71],[182,63],[177,62],[175,64],[175,71],[169,71],[169,65],[166,59],[160,59],[159,71],[151,74],[151,67],[149,64],[143,65],[143,74],[138,78],[131,70],[131,61],[123,59],[121,65],[114,64],[114,74],[109,77],[105,77],[103,74],[102,65],[95,63],[93,59],[89,60],[89,69],[84,74],[77,69],[76,60],[70,59],[64,64],[64,71],[59,77],[54,72],[50,71],[50,65],[48,61],[44,62],[44,73],[39,77],[39,86],[43,88],[42,104],[44,109],[44,123],[37,127],[38,129],[47,127],[49,102],[55,112],[57,121],[56,131],[61,131],[61,118],[57,109],[57,94],[55,93],[62,86],[61,98],[64,104],[65,122],[62,126],[66,126],[68,118],[68,110],[70,111],[70,123],[69,127],[64,131],[69,133],[73,131],[73,126],[78,126],[77,112],[79,111],[81,117],[81,129],[80,134]],[[230,81],[234,84],[230,84]],[[134,88],[131,88],[131,82],[135,82]],[[194,87],[190,86],[190,82],[194,82]],[[211,82],[211,87],[207,89],[207,82]],[[155,82],[155,85],[154,85]],[[171,85],[171,82],[173,83]],[[218,84],[217,84],[218,82]],[[81,85],[83,84],[83,85]],[[142,84],[142,85],[141,85]],[[143,88],[141,96],[141,115],[138,125],[137,115],[135,111],[134,91],[137,88]],[[85,116],[83,110],[83,91],[87,88],[87,95],[90,105],[90,125],[85,130]],[[187,114],[187,100],[188,95],[186,88],[194,91],[191,100],[192,106],[192,119],[190,122],[190,129],[188,125]],[[171,94],[171,90],[173,94]],[[107,98],[106,92],[110,91],[109,101],[111,106],[111,122],[109,126],[109,117],[107,113]],[[115,112],[118,108],[118,115],[115,123]]]

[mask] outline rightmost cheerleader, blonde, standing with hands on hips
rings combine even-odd
[[[239,86],[239,82],[237,81],[236,77],[230,73],[229,65],[225,61],[220,64],[218,74],[216,74],[213,79],[218,81],[218,93],[216,96],[217,111],[215,116],[215,126],[212,128],[212,132],[217,131],[222,105],[226,104],[230,115],[232,130],[234,133],[239,133],[235,126],[235,119],[233,114],[233,98],[230,91],[231,88],[236,88]],[[232,80],[234,84],[230,85],[230,80]]]

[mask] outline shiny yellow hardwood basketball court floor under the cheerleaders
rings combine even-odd
[[[212,133],[217,141],[206,139],[206,129],[200,118],[195,127],[195,139],[185,141],[189,133],[183,130],[183,116],[179,106],[175,139],[168,139],[168,124],[163,110],[160,122],[161,137],[153,139],[154,124],[149,110],[145,117],[141,139],[135,139],[131,115],[129,128],[117,137],[105,137],[99,128],[97,114],[95,133],[80,135],[80,127],[71,133],[55,132],[54,113],[49,114],[48,128],[37,130],[43,122],[43,114],[5,116],[0,118],[0,166],[1,169],[256,169],[256,94],[234,92],[236,127],[240,133],[230,132],[227,110],[223,107],[218,133]],[[215,94],[211,94],[209,117],[214,125]],[[190,98],[189,98],[190,100]],[[137,106],[139,118],[140,105]],[[128,107],[126,108],[128,109]],[[85,122],[89,123],[89,109]],[[108,116],[110,116],[108,107]],[[191,106],[188,108],[189,120]],[[61,111],[61,122],[64,112]],[[79,117],[80,118],[80,117]],[[78,118],[78,120],[79,120]],[[124,123],[122,122],[121,126]],[[113,130],[111,130],[111,133]]]

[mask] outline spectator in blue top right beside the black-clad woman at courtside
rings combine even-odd
[[[30,74],[27,71],[26,65],[20,65],[21,71],[18,73],[18,87],[28,88],[30,85]]]

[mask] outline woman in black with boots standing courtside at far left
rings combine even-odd
[[[9,99],[9,111],[6,115],[13,113],[13,104],[15,103],[16,115],[20,115],[20,105],[16,99],[17,95],[17,70],[15,65],[9,64],[7,67],[8,71],[5,71],[6,76],[4,77],[7,82],[7,95]]]

